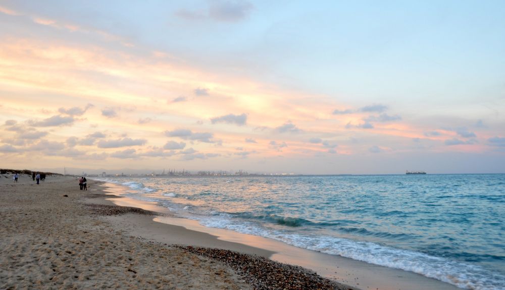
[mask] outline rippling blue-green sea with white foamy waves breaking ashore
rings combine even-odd
[[[206,227],[505,289],[505,175],[104,178]]]

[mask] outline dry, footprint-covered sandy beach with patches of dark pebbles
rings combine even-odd
[[[168,235],[178,246],[132,236],[113,220],[152,221],[151,212],[114,205],[99,184],[0,177],[0,288],[356,289],[182,226]]]

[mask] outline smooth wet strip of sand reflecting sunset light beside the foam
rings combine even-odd
[[[187,239],[178,236],[177,243],[192,244],[196,247],[214,247],[226,249],[226,243],[231,245],[249,246],[253,249],[269,251],[273,261],[297,265],[317,272],[323,277],[330,278],[342,284],[361,289],[417,289],[417,290],[457,290],[461,289],[452,284],[428,278],[417,273],[400,269],[388,268],[352,260],[340,256],[329,255],[311,250],[297,248],[283,242],[268,238],[239,234],[232,230],[210,228],[200,225],[197,221],[174,217],[171,212],[155,202],[145,202],[121,196],[125,188],[104,182],[108,201],[120,206],[135,206],[142,209],[162,213],[149,220],[147,217],[110,217],[109,220],[122,229],[128,229],[131,235],[140,236],[158,243],[173,243],[174,238],[167,235],[173,226],[181,226],[193,233],[205,233],[214,236],[212,246],[210,240]],[[216,239],[217,238],[217,239]],[[196,241],[196,242],[195,242]],[[240,248],[240,246],[238,246]],[[234,248],[236,249],[236,248]],[[249,248],[250,249],[250,248]],[[238,251],[244,251],[238,249]],[[252,252],[258,254],[258,252]]]

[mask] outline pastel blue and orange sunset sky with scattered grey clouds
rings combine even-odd
[[[0,168],[505,172],[504,14],[3,0]]]

